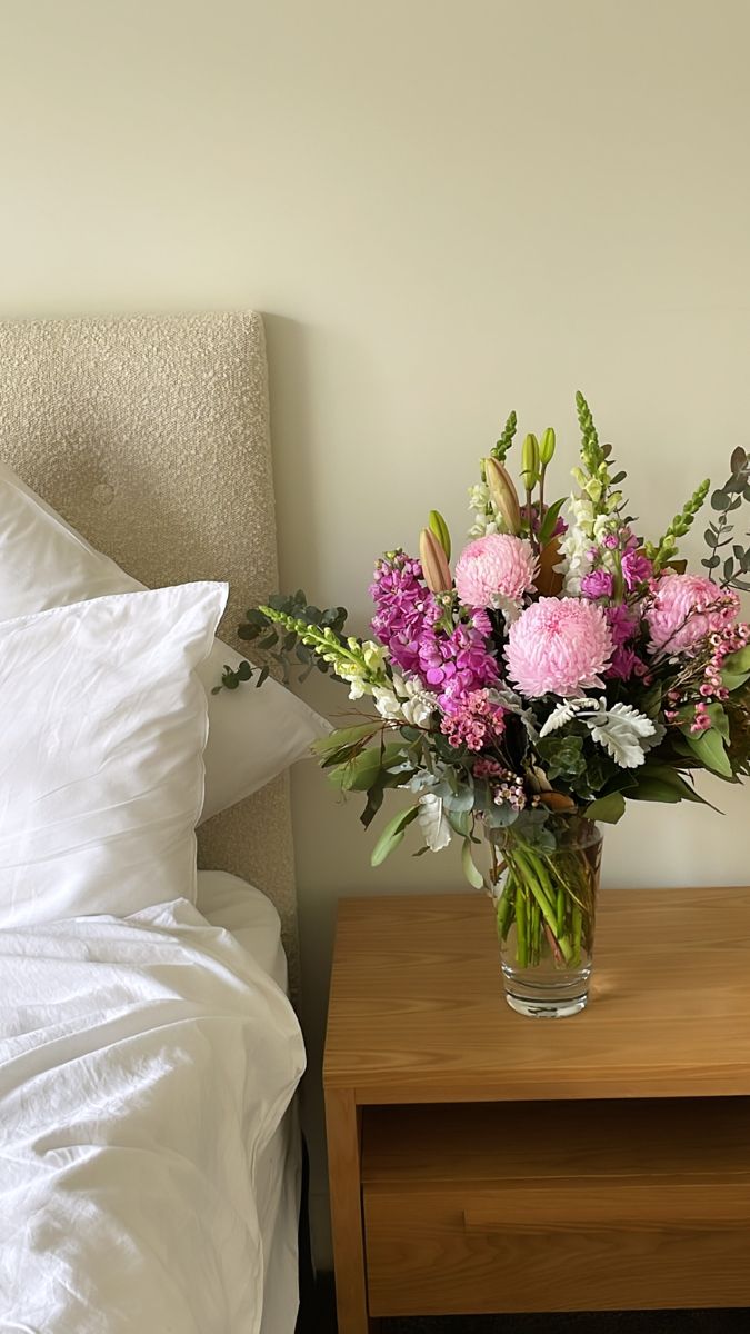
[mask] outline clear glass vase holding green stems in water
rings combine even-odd
[[[498,843],[495,887],[506,1000],[518,1014],[560,1019],[589,1000],[602,834],[560,816],[555,847],[531,846],[512,826]]]

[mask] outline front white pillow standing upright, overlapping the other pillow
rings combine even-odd
[[[0,927],[195,903],[206,692],[227,584],[0,623]]]

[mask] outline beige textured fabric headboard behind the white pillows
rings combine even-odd
[[[220,634],[242,650],[243,610],[278,584],[259,315],[0,323],[0,448],[141,583],[228,579]],[[208,820],[199,864],[268,894],[296,979],[287,778]]]

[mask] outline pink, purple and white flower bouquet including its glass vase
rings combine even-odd
[[[678,540],[710,483],[663,536],[643,540],[626,474],[581,394],[577,407],[567,504],[547,500],[552,430],[526,436],[515,486],[511,414],[471,488],[471,540],[452,572],[436,511],[419,559],[399,550],[378,560],[371,639],[346,632],[344,608],[320,611],[302,591],[268,598],[239,630],[282,666],[316,664],[350,699],[371,700],[374,712],[318,743],[319,762],[339,790],[364,795],[364,826],[388,788],[410,794],[374,866],[411,824],[415,855],[458,840],[466,878],[495,902],[508,1003],[528,1015],[586,1005],[598,822],[618,820],[629,800],[702,802],[697,770],[727,782],[750,772],[750,627],[738,622],[750,548],[734,534],[749,458],[735,450],[713,491],[705,572],[689,574]],[[224,686],[238,684],[226,672]]]

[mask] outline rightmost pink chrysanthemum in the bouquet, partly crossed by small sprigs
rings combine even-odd
[[[699,640],[737,620],[739,598],[702,575],[662,575],[646,610],[651,652],[690,652]]]

